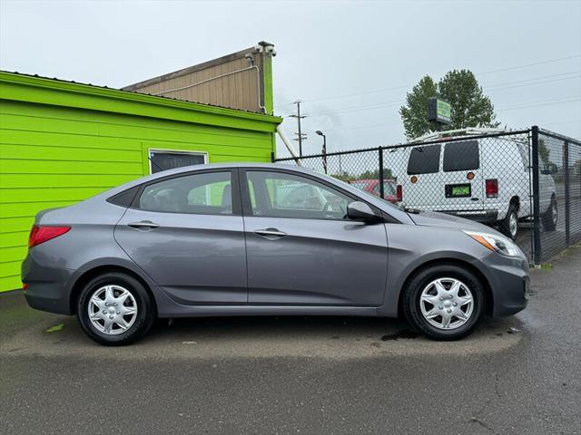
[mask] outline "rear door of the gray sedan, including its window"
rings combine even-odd
[[[236,170],[147,183],[115,227],[133,261],[181,304],[246,304],[246,253]]]

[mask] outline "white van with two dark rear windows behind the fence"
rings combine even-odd
[[[518,221],[532,214],[528,142],[510,137],[445,141],[404,149],[398,197],[406,208],[441,211],[498,225],[516,238]],[[407,168],[404,168],[407,163]],[[556,227],[555,180],[539,176],[543,226]]]

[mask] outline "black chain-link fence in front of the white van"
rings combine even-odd
[[[537,127],[274,161],[496,227],[535,264],[581,239],[581,143]]]

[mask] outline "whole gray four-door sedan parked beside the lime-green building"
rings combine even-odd
[[[404,315],[430,338],[527,305],[526,256],[489,227],[404,210],[271,164],[137,179],[36,216],[22,266],[34,308],[76,314],[98,343],[157,317]]]

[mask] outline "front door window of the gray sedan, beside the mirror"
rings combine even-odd
[[[352,201],[312,179],[283,172],[247,171],[253,216],[343,219]]]

